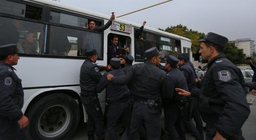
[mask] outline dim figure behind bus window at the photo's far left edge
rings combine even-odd
[[[22,22],[16,19],[4,20],[0,23],[0,46],[6,44],[17,44],[19,39],[18,30],[22,27]]]

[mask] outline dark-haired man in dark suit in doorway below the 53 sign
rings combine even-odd
[[[118,46],[118,36],[114,35],[111,38],[111,43],[108,45],[108,62],[114,57],[119,57],[120,55],[125,55],[125,52],[130,52],[130,47],[121,48]]]

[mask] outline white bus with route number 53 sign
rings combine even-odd
[[[97,32],[85,29],[88,21],[97,25],[108,22],[110,15],[63,5],[51,0],[1,0],[0,44],[17,43],[20,60],[17,75],[23,80],[25,100],[23,112],[30,125],[26,132],[31,139],[68,139],[80,120],[87,121],[86,111],[80,101],[79,74],[84,56],[85,37],[93,37],[98,52],[98,65],[106,65],[107,45],[114,35],[119,46],[130,47],[134,63],[143,63],[144,51],[156,46],[177,56],[186,52],[192,58],[191,41],[187,38],[144,27],[142,37],[135,37],[141,24],[116,18],[109,29]],[[141,19],[143,20],[143,19]],[[34,51],[28,51],[26,37]],[[104,110],[104,91],[99,99]]]

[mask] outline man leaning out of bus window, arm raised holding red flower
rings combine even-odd
[[[108,29],[110,27],[110,25],[112,24],[112,21],[115,19],[115,14],[112,13],[110,20],[108,22],[106,22],[105,25],[102,26],[97,26],[96,22],[94,20],[89,20],[89,26],[84,26],[84,28],[86,29],[90,29],[90,30],[95,30],[98,32],[102,32],[106,29]]]

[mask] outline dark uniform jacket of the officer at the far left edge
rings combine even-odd
[[[23,116],[22,80],[14,70],[12,66],[0,62],[0,124],[5,119],[18,121]]]

